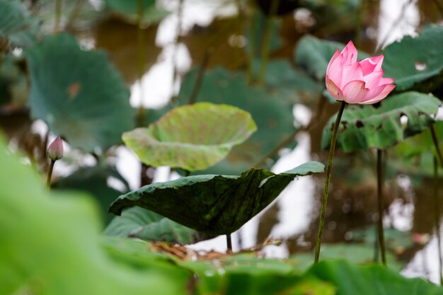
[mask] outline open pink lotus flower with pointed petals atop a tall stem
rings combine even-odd
[[[346,103],[377,103],[396,88],[391,78],[383,78],[384,55],[357,62],[357,50],[352,41],[340,53],[335,52],[326,69],[326,88],[336,100]]]

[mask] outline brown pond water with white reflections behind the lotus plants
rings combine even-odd
[[[159,1],[161,5],[177,11],[178,1]],[[436,21],[435,9],[430,1],[380,0],[364,1],[362,11],[362,35],[359,46],[367,52],[375,52],[398,40],[403,35],[413,35],[422,25]],[[204,56],[204,48],[210,42],[208,32],[222,28],[225,23],[233,22],[236,15],[236,3],[220,6],[219,1],[187,0],[180,18],[180,37],[178,33],[178,14],[171,13],[159,25],[151,25],[144,30],[144,74],[141,81],[137,79],[137,27],[120,21],[105,21],[96,24],[90,30],[82,30],[77,34],[85,47],[104,48],[110,58],[122,72],[128,85],[131,86],[131,104],[134,107],[161,108],[167,105],[171,96],[175,96],[180,88],[180,77],[200,64]],[[224,21],[214,21],[223,17]],[[439,18],[441,20],[441,17]],[[214,21],[214,22],[213,22]],[[292,59],[292,52],[297,40],[312,25],[309,11],[299,9],[282,17],[280,34],[285,45],[275,54],[276,57]],[[214,30],[211,30],[213,28]],[[346,42],[351,27],[345,33],[333,28],[321,28],[314,31],[320,37]],[[176,42],[176,40],[178,40]],[[212,66],[233,66],[236,51],[242,50],[242,38],[235,32],[224,40],[223,48],[231,46],[229,52],[214,52],[208,64]],[[225,43],[227,42],[228,45]],[[174,79],[174,73],[178,75]],[[318,160],[326,163],[327,152],[321,151],[321,131],[326,121],[338,110],[338,105],[326,103],[323,113],[316,117],[317,124],[309,132],[300,132],[296,136],[297,146],[282,149],[280,159],[272,167],[275,173],[283,172],[301,163]],[[296,104],[294,117],[297,122],[306,125],[313,116],[311,106]],[[45,133],[42,122],[33,125],[39,133]],[[68,148],[69,152],[69,148]],[[75,156],[73,156],[75,157]],[[376,174],[375,153],[359,152],[343,154],[336,152],[333,180],[330,189],[330,200],[323,233],[324,243],[352,243],[355,236],[363,229],[370,230],[375,224],[376,214]],[[389,158],[389,154],[388,154]],[[141,168],[137,156],[124,146],[115,149],[117,170],[128,180],[130,187],[139,187]],[[83,157],[75,165],[93,165],[92,156]],[[386,163],[385,165],[389,165]],[[57,175],[71,173],[73,166],[56,166]],[[352,167],[352,168],[349,168]],[[362,181],[353,183],[353,174],[362,168]],[[432,199],[432,180],[423,179],[417,184],[408,175],[388,173],[385,182],[385,216],[386,228],[397,229],[403,235],[394,236],[393,243],[398,259],[403,265],[402,273],[406,276],[422,276],[432,282],[439,282],[439,264],[437,261],[437,239],[433,226],[432,214],[435,208]],[[179,175],[167,167],[156,170],[154,181],[166,181],[178,178]],[[323,175],[304,177],[295,180],[282,192],[262,213],[255,216],[239,231],[233,234],[234,250],[250,248],[263,243],[269,236],[283,238],[280,246],[267,246],[265,253],[270,257],[284,258],[294,253],[309,251],[313,248],[318,225]],[[109,184],[119,189],[121,186],[115,179]],[[440,197],[443,187],[440,184]],[[398,235],[398,233],[396,233]],[[402,248],[403,247],[403,248]],[[197,250],[226,250],[226,239],[219,236],[209,241],[191,245]],[[368,251],[371,248],[368,248]]]

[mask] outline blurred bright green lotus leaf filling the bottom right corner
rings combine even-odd
[[[407,279],[382,265],[355,266],[345,260],[320,261],[312,274],[337,287],[336,295],[440,295],[443,288],[425,279]]]

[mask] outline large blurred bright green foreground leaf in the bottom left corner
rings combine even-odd
[[[0,138],[0,294],[186,294],[189,276],[129,267],[100,246],[90,197],[45,190]],[[154,263],[154,262],[153,262]]]

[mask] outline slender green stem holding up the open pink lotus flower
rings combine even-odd
[[[340,120],[343,115],[343,110],[345,110],[345,106],[346,106],[345,101],[342,101],[340,104],[340,110],[338,111],[337,117],[335,118],[332,138],[330,139],[328,166],[326,168],[325,189],[323,190],[323,199],[321,202],[320,222],[318,224],[318,234],[316,241],[316,254],[313,260],[314,263],[317,263],[318,258],[320,258],[321,237],[323,236],[323,226],[325,225],[326,204],[328,204],[328,192],[329,192],[330,174],[332,172],[332,165],[333,165],[333,158],[335,151],[335,141],[337,141],[338,127],[340,126]]]

